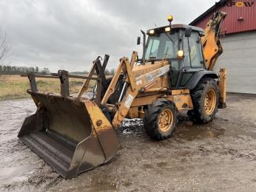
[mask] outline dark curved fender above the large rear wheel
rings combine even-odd
[[[218,79],[218,74],[212,71],[207,71],[207,70],[201,70],[195,73],[191,80],[189,80],[189,83],[186,84],[186,89],[192,90],[197,86],[199,80],[202,78],[213,78],[213,79]]]

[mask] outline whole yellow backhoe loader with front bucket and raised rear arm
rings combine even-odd
[[[195,123],[209,123],[218,108],[226,107],[226,69],[212,71],[223,52],[220,24],[225,17],[215,13],[204,31],[172,24],[172,16],[164,27],[141,31],[141,58],[137,52],[131,60],[121,58],[112,78],[104,75],[109,55],[96,58],[87,76],[64,70],[28,74],[27,92],[37,110],[24,120],[18,137],[69,179],[111,160],[118,151],[115,129],[124,118],[143,118],[153,140],[172,136],[178,112],[187,112]],[[58,78],[61,93],[38,91],[36,78]],[[70,96],[69,78],[84,79],[75,97]],[[96,86],[87,98],[90,80]]]

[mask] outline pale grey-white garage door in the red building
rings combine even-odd
[[[227,68],[227,91],[256,94],[256,31],[226,35],[221,41],[224,51],[215,70]]]

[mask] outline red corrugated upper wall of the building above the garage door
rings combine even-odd
[[[204,29],[206,27],[206,23],[212,18],[213,13],[216,11],[223,11],[227,13],[226,18],[221,25],[221,30],[226,30],[226,33],[256,29],[255,0],[232,0],[226,1],[226,3],[221,4],[221,6],[216,5],[212,12],[193,25]],[[243,18],[243,21],[238,21],[238,18],[240,17]]]

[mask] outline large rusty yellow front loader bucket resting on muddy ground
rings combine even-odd
[[[115,130],[94,102],[28,92],[38,109],[18,137],[64,178],[102,165],[118,151]]]

